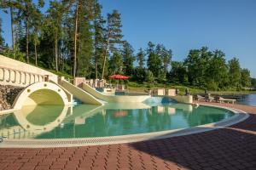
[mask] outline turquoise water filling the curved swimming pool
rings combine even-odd
[[[231,111],[177,103],[44,105],[0,116],[0,136],[9,139],[70,139],[150,133],[195,127],[233,116]]]

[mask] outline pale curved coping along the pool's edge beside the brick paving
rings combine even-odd
[[[200,104],[206,105],[206,104]],[[206,105],[232,111],[235,115],[219,122],[207,123],[196,127],[178,128],[153,133],[137,133],[110,137],[75,138],[75,139],[3,139],[0,148],[51,148],[51,147],[77,147],[102,144],[124,144],[153,139],[166,139],[195,133],[203,133],[218,128],[229,127],[246,120],[249,115],[245,111],[230,107]]]

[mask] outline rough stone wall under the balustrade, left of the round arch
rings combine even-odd
[[[12,108],[16,96],[23,88],[0,85],[0,111]]]

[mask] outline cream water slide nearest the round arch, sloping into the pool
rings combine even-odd
[[[83,89],[74,86],[72,83],[67,82],[66,80],[61,80],[61,87],[67,89],[67,91],[84,104],[90,105],[103,105],[103,102],[99,99],[96,99],[93,95],[85,92]]]

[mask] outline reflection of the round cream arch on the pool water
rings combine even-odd
[[[2,121],[6,120],[5,123],[1,123],[0,134],[8,139],[34,138],[57,127],[63,122],[67,112],[71,111],[72,108],[61,105],[25,106],[7,117],[0,116]],[[9,126],[9,123],[13,126]]]

